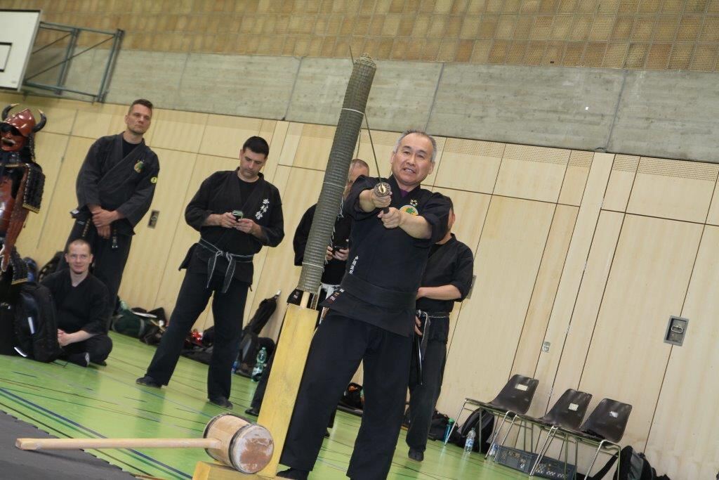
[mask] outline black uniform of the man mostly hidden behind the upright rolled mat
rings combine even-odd
[[[309,207],[307,211],[302,215],[297,230],[295,230],[295,236],[292,239],[292,246],[295,250],[295,266],[302,266],[302,261],[305,257],[305,247],[307,246],[307,239],[310,235],[310,227],[312,226],[312,220],[314,219],[314,212],[317,208],[317,204]],[[337,215],[337,219],[334,221],[334,232],[332,232],[331,245],[333,247],[347,248],[349,246],[349,232],[352,230],[352,217],[342,214],[340,212]],[[325,299],[326,294],[331,294],[336,286],[339,286],[339,282],[342,281],[344,276],[344,269],[347,266],[347,261],[337,260],[332,258],[324,266],[322,272],[322,289],[319,294],[319,301]],[[319,307],[321,309],[321,307]],[[318,317],[319,320],[319,317]],[[270,361],[267,362],[267,368],[262,371],[260,381],[257,383],[255,394],[252,395],[252,402],[250,407],[255,411],[259,411],[262,407],[262,399],[265,398],[265,390],[267,389],[267,381],[270,379],[270,371],[272,371],[274,356],[270,356]],[[329,427],[334,424],[334,411],[332,412],[331,419],[329,421]]]

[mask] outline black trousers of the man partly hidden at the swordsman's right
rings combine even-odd
[[[407,445],[413,450],[423,452],[427,448],[427,436],[431,427],[434,406],[441,391],[446,363],[446,330],[449,330],[448,319],[436,319],[429,331],[427,348],[422,362],[422,384],[419,384],[417,356],[412,356],[411,373],[409,376],[409,428]]]

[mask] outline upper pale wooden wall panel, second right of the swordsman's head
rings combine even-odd
[[[569,150],[507,145],[494,193],[556,202],[568,160]]]

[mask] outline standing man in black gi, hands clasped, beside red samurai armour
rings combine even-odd
[[[155,195],[160,161],[142,138],[150,128],[152,103],[137,99],[130,105],[117,135],[96,140],[78,173],[78,208],[68,243],[84,238],[95,257],[94,275],[107,286],[114,311],[122,272],[130,252],[134,226],[145,216]],[[67,266],[62,260],[60,268]]]

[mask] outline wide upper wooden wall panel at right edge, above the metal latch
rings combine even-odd
[[[627,213],[705,222],[719,165],[642,157]]]

